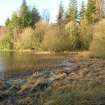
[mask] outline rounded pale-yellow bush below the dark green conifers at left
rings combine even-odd
[[[16,49],[33,49],[38,46],[35,38],[35,32],[32,28],[26,28],[19,36],[20,37],[15,46]]]

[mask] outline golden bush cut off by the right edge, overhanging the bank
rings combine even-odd
[[[95,26],[90,54],[92,57],[105,58],[105,20]]]

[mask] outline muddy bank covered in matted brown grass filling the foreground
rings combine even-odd
[[[104,105],[105,60],[65,60],[26,74],[0,81],[0,105]]]

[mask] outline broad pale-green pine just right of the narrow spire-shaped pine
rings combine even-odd
[[[77,0],[70,0],[69,9],[66,14],[67,21],[76,21],[77,12]]]

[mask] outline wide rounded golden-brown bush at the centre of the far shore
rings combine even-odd
[[[64,29],[59,30],[57,26],[50,26],[45,33],[42,48],[55,52],[69,50],[70,41]]]

